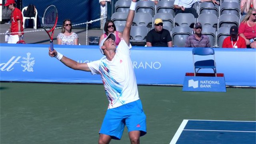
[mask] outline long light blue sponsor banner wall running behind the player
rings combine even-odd
[[[48,44],[0,44],[0,80],[102,83],[100,76],[72,70],[48,56]],[[98,46],[54,45],[63,55],[90,62],[104,58]],[[228,86],[256,86],[256,49],[214,48],[217,72]],[[194,72],[192,48],[136,47],[131,58],[138,84],[182,85]],[[212,70],[200,70],[212,72]]]

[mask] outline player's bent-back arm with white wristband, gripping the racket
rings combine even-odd
[[[72,68],[74,70],[83,70],[83,71],[86,71],[86,72],[91,71],[90,68],[88,67],[88,64],[78,63],[74,60],[71,60],[70,58],[67,58],[66,56],[63,56],[62,54],[57,52],[55,49],[54,49],[54,51],[51,51],[51,49],[49,48],[49,56],[57,58],[63,64],[65,64],[66,66],[68,66],[69,68]]]

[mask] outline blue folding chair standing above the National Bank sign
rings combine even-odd
[[[198,71],[202,68],[212,68],[215,76],[217,76],[215,54],[214,54],[213,48],[193,48],[192,54],[193,54],[193,64],[194,64],[194,76],[196,76]],[[194,58],[195,55],[199,55],[199,56],[213,55],[213,59],[209,59],[207,57],[208,59],[195,61],[195,58]],[[196,71],[196,69],[198,70]]]

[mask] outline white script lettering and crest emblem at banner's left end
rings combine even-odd
[[[0,64],[0,70],[9,72],[14,70],[14,68],[17,68],[15,65],[22,63],[20,64],[22,72],[33,72],[33,66],[35,64],[34,59],[34,57],[31,57],[30,52],[26,53],[26,57],[22,58],[21,56],[12,56],[7,62]]]

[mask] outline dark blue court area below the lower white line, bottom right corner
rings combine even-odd
[[[256,144],[256,133],[183,130],[176,144]]]

